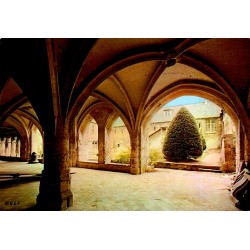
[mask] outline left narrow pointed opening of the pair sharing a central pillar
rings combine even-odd
[[[78,160],[98,162],[98,125],[90,114],[83,119],[78,133]]]

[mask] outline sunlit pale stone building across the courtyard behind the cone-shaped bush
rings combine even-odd
[[[224,161],[222,162],[225,162],[225,156],[223,157],[225,152],[224,150],[221,151],[224,147],[223,137],[225,135],[227,136],[227,138],[230,137],[231,147],[235,149],[236,131],[230,117],[227,114],[223,113],[222,109],[219,106],[209,100],[204,100],[204,102],[183,106],[185,106],[194,116],[197,127],[203,138],[205,139],[206,151],[220,151],[222,154],[222,159],[224,159]],[[164,156],[162,154],[162,147],[168,127],[172,119],[183,106],[165,105],[154,114],[151,121],[149,122],[147,131],[147,136],[149,138],[149,149],[158,151],[159,159],[164,159]],[[123,136],[124,130],[126,130],[124,123],[121,119],[118,119],[113,125],[113,133],[117,134],[116,139],[113,141],[113,147],[116,149],[120,145],[122,145],[123,147],[129,145],[129,137]]]

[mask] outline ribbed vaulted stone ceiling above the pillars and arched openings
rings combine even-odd
[[[249,115],[246,38],[2,39],[0,60],[1,133],[11,115],[46,129],[100,102],[133,127],[177,86],[214,89]]]

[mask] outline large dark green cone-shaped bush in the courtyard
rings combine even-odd
[[[192,114],[182,107],[169,125],[162,152],[168,161],[185,161],[202,155],[200,133]]]

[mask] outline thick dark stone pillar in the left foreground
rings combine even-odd
[[[62,126],[56,134],[44,132],[44,170],[37,196],[39,210],[65,210],[73,204],[68,135]]]

